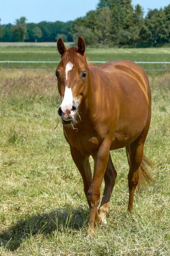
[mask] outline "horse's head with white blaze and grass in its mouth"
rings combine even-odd
[[[61,38],[57,41],[61,61],[55,74],[62,101],[58,108],[58,115],[63,124],[75,122],[82,96],[86,93],[88,63],[84,54],[85,47],[84,39],[80,36],[77,47],[72,46],[68,50]]]

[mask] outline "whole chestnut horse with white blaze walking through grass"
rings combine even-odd
[[[117,176],[110,150],[126,147],[130,166],[129,211],[133,209],[138,182],[152,180],[143,155],[151,119],[149,81],[144,70],[132,61],[88,65],[85,42],[80,36],[77,47],[67,50],[59,38],[57,48],[61,55],[56,69],[61,96],[58,115],[90,207],[87,234],[94,234],[94,222],[106,222]],[[90,155],[94,160],[93,177]],[[105,187],[98,211],[103,178]]]

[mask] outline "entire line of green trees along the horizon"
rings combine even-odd
[[[144,17],[143,7],[132,6],[131,0],[99,0],[95,10],[85,17],[68,22],[26,23],[0,25],[0,41],[63,41],[84,37],[87,45],[119,47],[150,47],[170,43],[170,4],[163,9],[149,9]]]

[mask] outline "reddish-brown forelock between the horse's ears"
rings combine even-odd
[[[62,59],[60,61],[61,64],[66,65],[68,62],[72,63],[74,66],[79,66],[79,59],[82,61],[86,61],[83,56],[78,54],[78,48],[75,46],[70,47],[66,52],[63,54]]]

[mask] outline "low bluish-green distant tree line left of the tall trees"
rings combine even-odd
[[[55,42],[62,37],[65,42],[73,41],[73,22],[26,23],[26,17],[17,19],[15,25],[0,25],[1,42]]]

